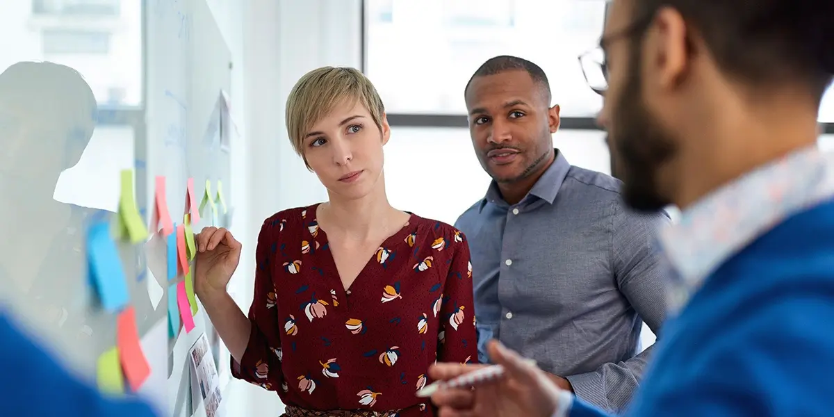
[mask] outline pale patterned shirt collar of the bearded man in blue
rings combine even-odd
[[[781,221],[834,197],[834,153],[816,146],[768,163],[701,198],[662,228],[671,264],[671,308],[678,309],[732,254]]]

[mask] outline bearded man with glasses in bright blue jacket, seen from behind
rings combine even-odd
[[[831,416],[834,154],[816,118],[834,2],[613,0],[600,48],[584,69],[605,74],[591,87],[625,203],[683,211],[658,236],[674,310],[627,415]],[[604,415],[509,349],[490,356],[509,376],[435,394],[440,415]]]

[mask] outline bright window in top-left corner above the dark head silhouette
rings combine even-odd
[[[142,101],[141,0],[15,0],[3,2],[0,72],[19,61],[75,68],[99,104]]]

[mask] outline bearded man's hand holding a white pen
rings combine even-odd
[[[440,415],[550,417],[560,404],[570,404],[570,393],[561,391],[529,359],[495,341],[489,352],[496,365],[435,364],[429,369],[430,376],[441,381],[425,387],[434,391],[431,399]]]

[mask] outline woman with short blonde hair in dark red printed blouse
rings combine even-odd
[[[305,74],[286,124],[329,201],[264,221],[248,318],[225,292],[240,244],[224,229],[198,236],[195,284],[234,376],[278,391],[289,416],[434,415],[415,396],[429,365],[477,358],[465,236],[389,204],[390,128],[356,69]]]

